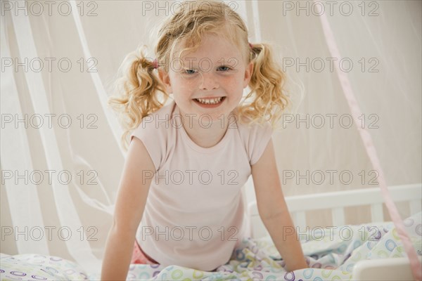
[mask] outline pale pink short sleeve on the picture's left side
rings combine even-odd
[[[136,136],[139,138],[143,145],[145,145],[148,154],[153,160],[155,171],[160,169],[162,163],[162,156],[165,155],[165,131],[160,126],[156,126],[155,122],[148,122],[143,119],[141,124],[132,131],[130,141]]]

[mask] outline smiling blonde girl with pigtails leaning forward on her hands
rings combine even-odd
[[[131,262],[215,270],[229,261],[251,174],[286,270],[306,268],[271,141],[287,98],[269,46],[249,44],[243,20],[217,1],[183,2],[159,37],[156,60],[143,50],[127,58],[122,96],[111,100],[129,150],[101,279],[125,280]]]

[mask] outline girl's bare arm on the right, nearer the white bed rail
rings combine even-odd
[[[295,226],[281,191],[272,140],[269,141],[258,162],[252,165],[252,179],[255,185],[258,213],[276,249],[286,261],[286,269],[293,271],[307,268]]]

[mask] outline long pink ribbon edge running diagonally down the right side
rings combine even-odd
[[[314,2],[315,1],[316,0],[314,0]],[[316,5],[316,7],[321,8],[319,5]],[[330,24],[326,18],[326,14],[324,12],[319,11],[318,15],[320,15],[322,29],[324,30],[324,35],[325,35],[326,42],[330,50],[331,56],[333,58],[338,58],[338,60],[340,60],[341,58],[340,51],[338,51],[338,47],[335,42]],[[362,115],[362,112],[354,96],[352,87],[350,86],[349,78],[347,77],[347,74],[345,72],[340,71],[338,64],[335,64],[335,70],[337,72],[338,79],[340,80],[340,84],[343,88],[343,92],[345,94],[345,98],[349,105],[350,111],[352,112],[353,120],[355,124],[359,124],[358,118],[359,116]],[[375,169],[379,173],[378,182],[381,188],[381,192],[383,194],[385,205],[388,208],[388,212],[392,218],[393,223],[395,224],[397,233],[403,242],[404,249],[410,261],[411,272],[412,272],[412,275],[414,276],[414,280],[421,281],[422,280],[421,263],[419,263],[418,261],[418,256],[413,247],[413,244],[411,243],[409,235],[407,235],[406,230],[404,229],[402,218],[400,217],[397,211],[397,208],[395,206],[395,203],[390,196],[390,192],[388,191],[387,184],[385,183],[383,170],[381,169],[381,164],[376,154],[375,146],[373,145],[371,134],[368,131],[366,131],[366,129],[362,128],[361,126],[357,126],[357,130],[359,131],[359,134],[365,145],[366,153],[368,154],[369,159],[371,160],[373,169]]]

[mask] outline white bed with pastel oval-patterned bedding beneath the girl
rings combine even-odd
[[[421,184],[389,188],[396,202],[407,202],[411,216],[404,225],[411,241],[422,254]],[[181,266],[131,265],[127,280],[412,280],[409,261],[392,222],[383,216],[383,198],[378,188],[286,197],[309,268],[292,273],[276,251],[260,216],[256,202],[248,205],[251,237],[245,237],[231,259],[215,272]],[[371,223],[345,224],[345,207],[370,205]],[[332,227],[304,232],[307,211],[331,209]],[[349,231],[347,239],[343,230]],[[99,273],[87,273],[74,261],[56,256],[20,254],[0,256],[1,280],[99,280]]]

